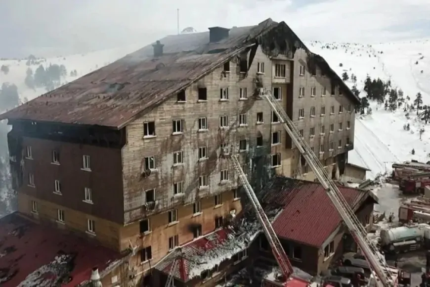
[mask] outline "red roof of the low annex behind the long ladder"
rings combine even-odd
[[[352,206],[368,192],[339,186]],[[341,217],[319,183],[275,177],[263,204],[281,204],[284,210],[272,223],[279,238],[318,246],[341,223]]]

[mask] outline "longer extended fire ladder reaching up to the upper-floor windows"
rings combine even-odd
[[[339,191],[336,184],[327,175],[327,172],[322,166],[320,160],[310,149],[309,145],[301,138],[299,130],[294,125],[290,117],[287,115],[282,105],[270,93],[270,91],[265,91],[261,96],[267,99],[273,112],[281,120],[284,129],[291,137],[292,141],[297,146],[301,155],[309,164],[312,171],[315,173],[315,176],[317,177],[321,185],[327,191],[330,200],[333,202],[335,208],[338,210],[339,214],[344,220],[344,223],[349,229],[351,235],[357,242],[361,251],[364,253],[364,256],[369,262],[369,265],[371,266],[372,270],[376,274],[377,278],[380,280],[380,283],[378,283],[378,285],[382,284],[382,286],[384,287],[395,286],[395,279],[392,269],[387,265],[385,258],[379,252],[375,243],[367,238],[367,231],[364,229],[363,225],[355,216],[354,212],[350,208],[349,204],[346,202],[344,196]]]

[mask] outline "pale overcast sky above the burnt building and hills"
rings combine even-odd
[[[303,40],[430,37],[430,0],[2,0],[0,57],[147,44],[192,26],[285,21]]]

